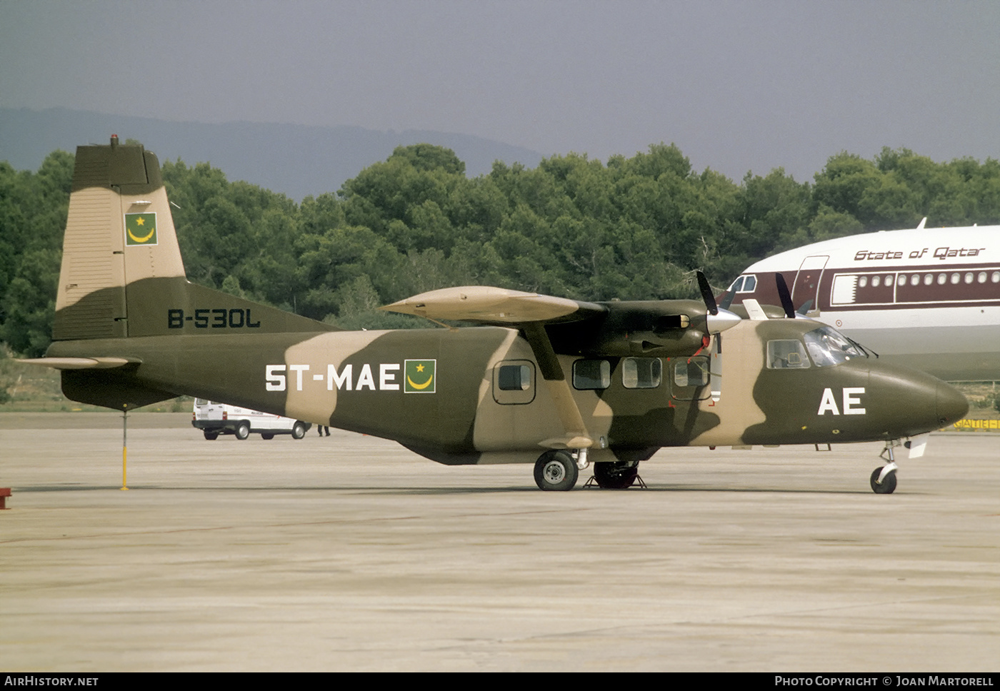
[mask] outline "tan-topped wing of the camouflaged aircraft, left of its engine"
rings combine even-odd
[[[607,308],[591,302],[492,286],[432,290],[379,309],[429,319],[474,321],[482,324],[579,321],[607,311]]]

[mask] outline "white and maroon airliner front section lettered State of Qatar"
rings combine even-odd
[[[887,361],[947,381],[1000,380],[1000,226],[921,222],[817,242],[753,264],[722,301],[781,304],[775,273],[796,309]]]

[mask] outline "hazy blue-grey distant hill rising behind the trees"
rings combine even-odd
[[[533,168],[536,151],[465,134],[363,127],[311,127],[279,123],[170,122],[68,108],[0,108],[0,160],[17,170],[37,170],[55,149],[73,153],[81,144],[137,139],[160,161],[188,165],[207,161],[229,180],[246,180],[296,201],[335,192],[362,169],[384,161],[399,145],[427,142],[446,146],[465,162],[466,173],[488,173],[493,162]]]

